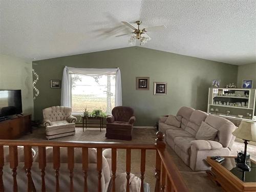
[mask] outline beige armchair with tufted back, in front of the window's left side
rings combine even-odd
[[[52,106],[42,110],[43,124],[46,126],[47,140],[75,135],[76,117],[71,115],[72,109],[67,106]]]

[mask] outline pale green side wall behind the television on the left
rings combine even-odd
[[[23,113],[32,114],[32,62],[0,54],[0,89],[21,89]]]

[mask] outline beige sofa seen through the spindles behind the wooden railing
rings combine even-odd
[[[31,175],[36,191],[41,191],[41,169],[38,165],[38,152],[33,152],[33,165]],[[4,146],[5,165],[3,167],[3,181],[5,191],[13,191],[12,169],[9,164],[9,147]],[[108,191],[111,183],[111,149],[105,149],[102,152],[102,172],[101,172],[101,191]],[[73,183],[74,191],[83,191],[84,173],[82,171],[82,149],[74,148],[74,170]],[[88,172],[87,184],[88,191],[98,191],[98,171],[97,171],[97,151],[95,148],[89,148],[88,151]],[[55,191],[55,169],[53,168],[53,148],[46,147],[45,183],[46,191]],[[59,191],[69,191],[70,189],[70,170],[67,166],[68,155],[67,147],[60,147],[60,168],[59,168]],[[130,174],[130,191],[139,192],[140,178]],[[18,191],[27,190],[28,178],[24,169],[24,150],[23,146],[18,147],[18,166],[17,166],[17,186]],[[116,191],[126,190],[126,173],[116,174],[115,179]]]

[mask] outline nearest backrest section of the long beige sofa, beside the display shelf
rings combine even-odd
[[[236,138],[232,133],[237,129],[237,126],[225,118],[214,115],[208,115],[205,122],[218,130],[216,141],[221,143],[223,147],[228,147],[230,149]]]

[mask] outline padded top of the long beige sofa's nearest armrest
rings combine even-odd
[[[194,140],[191,141],[191,146],[194,146],[198,151],[200,150],[218,150],[223,148],[222,144],[217,141],[210,140]]]

